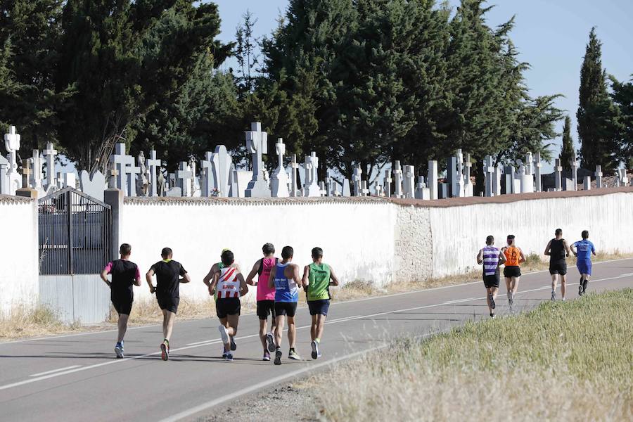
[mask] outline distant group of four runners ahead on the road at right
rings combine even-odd
[[[592,255],[596,255],[594,244],[589,241],[589,231],[583,230],[582,240],[568,245],[563,239],[563,230],[556,229],[554,237],[547,243],[544,255],[549,256],[549,274],[551,275],[551,300],[556,300],[556,288],[558,279],[561,280],[561,298],[565,300],[567,293],[567,260],[572,254],[577,257],[576,267],[580,272],[580,284],[578,295],[587,292],[589,277],[592,275]],[[483,265],[483,282],[487,293],[487,305],[490,316],[494,318],[494,309],[497,307],[495,300],[499,293],[499,268],[504,265],[504,278],[508,305],[510,311],[514,310],[516,303],[516,293],[521,276],[520,265],[525,262],[523,251],[516,246],[515,236],[509,234],[506,238],[506,245],[503,248],[494,246],[494,237],[487,236],[485,247],[481,248],[477,254],[477,263]]]

